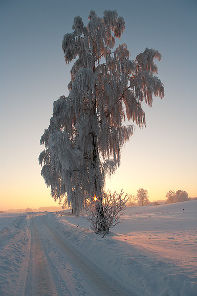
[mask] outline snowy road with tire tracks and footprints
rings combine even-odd
[[[31,218],[31,249],[25,295],[131,295],[103,270],[73,249],[46,222]]]

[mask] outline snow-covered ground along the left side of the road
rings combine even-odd
[[[18,289],[21,286],[21,280],[25,277],[28,265],[32,215],[30,213],[1,214],[0,295],[20,294]]]

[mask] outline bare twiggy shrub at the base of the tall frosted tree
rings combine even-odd
[[[109,233],[110,228],[114,227],[116,224],[121,223],[122,219],[120,219],[126,208],[126,202],[128,200],[127,195],[123,197],[123,191],[117,193],[106,192],[102,195],[101,202],[103,207],[103,221],[105,223],[106,233]],[[87,221],[91,223],[91,229],[96,233],[101,233],[101,221],[100,216],[98,215],[98,202],[93,201],[87,207],[87,215],[84,216]]]

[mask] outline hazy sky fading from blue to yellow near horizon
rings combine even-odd
[[[142,187],[150,200],[169,189],[197,196],[196,0],[1,0],[0,210],[56,204],[38,156],[53,102],[68,95],[71,65],[61,41],[76,15],[87,24],[90,10],[102,17],[105,9],[124,17],[130,59],[146,47],[162,54],[165,87],[163,100],[144,106],[146,128],[136,128],[106,188],[136,194]]]

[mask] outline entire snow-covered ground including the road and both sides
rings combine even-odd
[[[68,212],[68,211],[66,211]],[[84,217],[0,214],[0,295],[197,295],[197,200]]]

